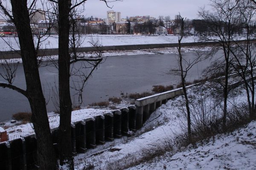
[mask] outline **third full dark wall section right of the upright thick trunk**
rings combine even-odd
[[[96,144],[105,144],[105,117],[96,116]]]

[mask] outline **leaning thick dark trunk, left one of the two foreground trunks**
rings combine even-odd
[[[12,14],[20,42],[20,52],[26,79],[27,98],[32,110],[32,123],[37,137],[38,164],[41,170],[55,170],[55,157],[46,103],[41,87],[38,62],[30,28],[27,0],[11,0]]]

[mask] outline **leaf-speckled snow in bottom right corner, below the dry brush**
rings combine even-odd
[[[215,140],[197,148],[187,148],[175,155],[166,153],[151,163],[143,163],[128,170],[255,170],[256,121],[232,133],[215,136]]]

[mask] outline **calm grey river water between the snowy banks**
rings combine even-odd
[[[185,58],[194,58],[195,54],[186,53]],[[121,93],[140,93],[150,91],[153,85],[175,85],[180,78],[167,74],[170,68],[177,67],[177,54],[145,54],[131,56],[113,56],[104,58],[99,68],[93,72],[92,77],[87,81],[83,91],[83,105],[87,106],[93,102],[108,100],[111,96],[121,96]],[[80,67],[81,63],[76,63]],[[187,81],[193,81],[201,76],[202,70],[209,65],[209,60],[195,65],[187,77]],[[47,111],[55,111],[53,105],[54,93],[52,91],[58,87],[58,72],[55,67],[41,67],[40,77],[48,102]],[[2,65],[0,65],[2,71]],[[76,77],[73,77],[76,79]],[[0,82],[4,82],[0,77]],[[71,82],[71,85],[73,83]],[[22,64],[18,65],[14,85],[25,88]],[[73,101],[77,101],[78,96],[72,91]],[[12,114],[17,112],[29,112],[29,102],[16,91],[0,88],[0,121],[11,119]]]

